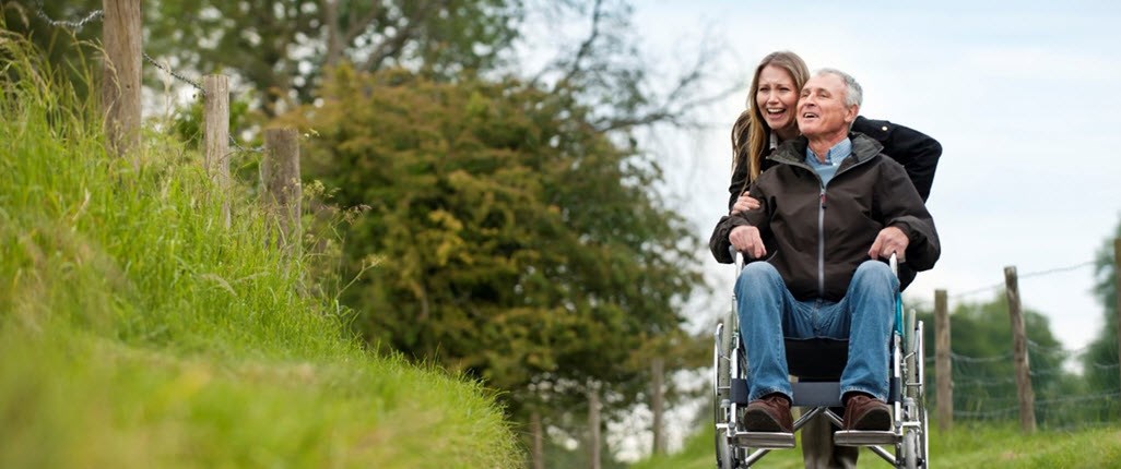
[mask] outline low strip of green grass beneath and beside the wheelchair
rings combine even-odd
[[[932,466],[945,468],[1115,467],[1121,460],[1121,428],[1040,430],[1025,435],[1012,424],[960,424],[947,432],[932,429],[929,454]],[[861,450],[859,461],[862,468],[891,467],[867,449]],[[714,465],[712,430],[705,430],[689,438],[680,451],[640,461],[631,469],[708,469]],[[793,450],[771,451],[759,467],[804,467],[800,442]]]

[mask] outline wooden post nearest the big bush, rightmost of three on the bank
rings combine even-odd
[[[265,130],[261,163],[266,198],[280,226],[280,245],[298,255],[300,245],[299,140],[296,129]]]

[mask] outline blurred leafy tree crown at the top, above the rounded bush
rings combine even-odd
[[[491,67],[513,39],[520,2],[176,0],[152,3],[145,15],[150,54],[240,76],[266,93],[271,114],[277,102],[312,102],[323,72],[344,62],[445,78]]]

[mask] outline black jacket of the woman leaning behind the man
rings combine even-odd
[[[938,167],[938,158],[942,157],[942,144],[937,140],[927,137],[917,130],[893,124],[888,121],[873,121],[863,115],[856,116],[852,123],[852,131],[871,137],[883,146],[883,153],[898,161],[907,170],[911,184],[918,189],[918,195],[923,201],[930,196],[930,186],[934,185],[934,171]],[[748,132],[743,132],[745,139]],[[767,159],[768,153],[763,153],[761,169],[766,171],[775,166],[775,162]],[[743,158],[743,156],[738,156]],[[728,208],[735,205],[735,199],[743,194],[744,181],[748,178],[748,165],[739,161],[735,165],[735,172],[732,175],[732,184],[728,187]]]

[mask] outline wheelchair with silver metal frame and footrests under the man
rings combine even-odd
[[[733,257],[739,273],[743,269],[742,256],[733,253]],[[898,275],[895,255],[889,263],[892,273]],[[888,404],[892,410],[891,430],[837,431],[834,433],[834,444],[867,447],[897,468],[927,468],[929,431],[923,394],[923,321],[915,320],[914,310],[905,318],[899,293],[896,293],[895,309],[896,327],[890,339],[891,373],[888,395]],[[741,425],[748,405],[748,384],[747,358],[740,344],[739,330],[733,292],[731,313],[716,325],[713,347],[713,418],[717,469],[750,468],[771,450],[795,447],[794,433],[749,432]],[[831,407],[843,407],[840,377],[847,359],[847,340],[837,339],[786,339],[789,374],[798,378],[790,383],[794,391],[791,409],[802,410],[800,416],[794,422],[795,432],[817,415],[825,415],[834,425],[843,428],[842,418]]]

